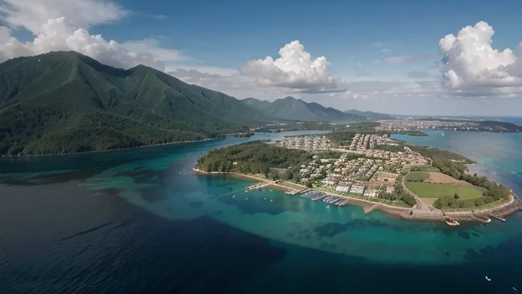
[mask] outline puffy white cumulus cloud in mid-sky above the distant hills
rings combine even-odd
[[[250,60],[239,68],[246,77],[264,87],[283,87],[306,93],[345,92],[346,83],[329,73],[330,62],[323,56],[311,60],[299,40],[279,50],[279,58]]]

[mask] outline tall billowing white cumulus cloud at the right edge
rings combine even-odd
[[[439,49],[445,53],[441,70],[445,84],[454,89],[472,87],[515,87],[522,86],[522,43],[516,51],[492,48],[494,30],[488,23],[480,21],[457,33],[440,39]],[[518,55],[518,56],[517,56]]]

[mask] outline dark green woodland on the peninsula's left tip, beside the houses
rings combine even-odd
[[[287,149],[267,144],[262,141],[252,141],[226,148],[219,148],[201,156],[197,168],[206,172],[263,174],[267,178],[270,168],[287,169],[284,180],[299,176],[296,171],[299,166],[312,160],[312,154],[307,151]]]

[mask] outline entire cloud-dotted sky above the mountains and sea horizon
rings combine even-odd
[[[6,2],[7,8],[0,4],[4,35],[21,42],[4,50],[6,58],[72,49],[114,66],[142,62],[240,99],[292,95],[339,109],[522,115],[522,66],[516,61],[522,57],[522,1]],[[45,26],[60,17],[65,20]],[[466,26],[472,30],[457,36]],[[79,28],[88,42],[101,35],[101,46],[110,50],[94,52]],[[441,50],[439,41],[448,34],[458,38],[445,39]],[[500,53],[480,49],[491,39]],[[109,40],[121,52],[114,53]],[[281,48],[289,56],[277,62]],[[505,48],[513,53],[502,55]],[[140,58],[133,60],[134,53]],[[309,62],[300,62],[306,53]],[[445,55],[450,62],[440,68]]]

